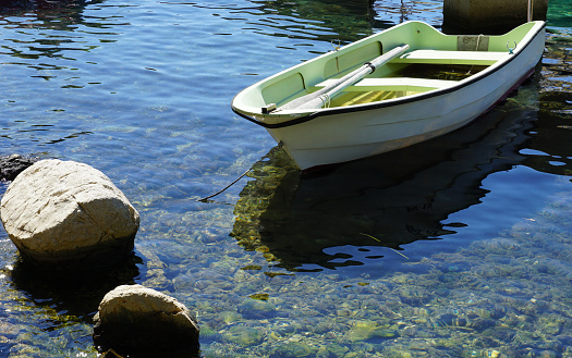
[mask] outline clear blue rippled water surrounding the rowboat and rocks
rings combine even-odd
[[[0,152],[101,170],[142,226],[124,267],[74,280],[17,264],[2,232],[0,356],[95,357],[92,316],[125,283],[196,311],[207,357],[569,356],[567,1],[550,2],[536,78],[445,140],[301,180],[273,151],[256,163],[275,143],[230,110],[240,89],[332,40],[439,26],[440,5],[3,8]]]

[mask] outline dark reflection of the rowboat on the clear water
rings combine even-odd
[[[405,257],[402,245],[465,226],[448,217],[480,202],[489,174],[525,160],[519,151],[537,119],[537,97],[528,83],[470,126],[314,177],[300,177],[288,156],[273,148],[253,166],[231,236],[292,271]]]

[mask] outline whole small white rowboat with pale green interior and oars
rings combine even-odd
[[[245,88],[232,110],[308,170],[466,125],[534,73],[544,47],[541,21],[498,36],[406,22]]]

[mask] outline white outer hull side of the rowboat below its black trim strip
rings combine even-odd
[[[483,82],[406,107],[341,113],[267,131],[304,171],[376,156],[465,126],[508,97],[534,73],[534,67],[535,64],[524,74],[516,73],[519,81],[504,83],[490,92],[494,84],[487,86]],[[475,98],[475,92],[480,96]],[[451,102],[457,104],[448,106]]]

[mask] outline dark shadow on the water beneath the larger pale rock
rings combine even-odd
[[[92,324],[104,296],[119,285],[134,284],[141,263],[143,260],[132,254],[111,268],[51,272],[17,261],[11,277],[14,287],[38,307],[50,307],[59,314],[74,316]]]

